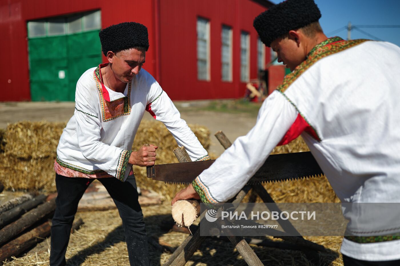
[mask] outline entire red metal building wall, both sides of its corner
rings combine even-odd
[[[240,82],[240,31],[250,33],[250,78],[253,79],[257,77],[257,33],[252,22],[266,10],[258,2],[262,0],[114,0],[112,4],[107,0],[2,1],[0,32],[5,38],[0,48],[9,57],[0,65],[0,101],[31,99],[26,23],[90,10],[101,10],[103,28],[124,21],[136,21],[148,27],[150,48],[144,69],[160,81],[172,99],[242,97],[245,84]],[[197,80],[198,16],[210,20],[210,81]],[[222,24],[233,30],[232,82],[221,81]],[[267,49],[266,62],[269,58]]]

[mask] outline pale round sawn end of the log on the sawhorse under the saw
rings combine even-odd
[[[172,218],[179,226],[190,226],[200,215],[200,203],[197,200],[178,200],[172,205]]]

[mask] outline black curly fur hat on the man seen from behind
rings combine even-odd
[[[266,46],[290,30],[302,28],[321,18],[321,12],[314,0],[286,0],[272,6],[258,15],[254,28]]]

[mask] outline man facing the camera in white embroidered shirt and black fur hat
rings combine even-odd
[[[149,48],[147,28],[124,22],[100,31],[108,63],[85,71],[76,84],[75,113],[64,129],[54,163],[56,211],[51,227],[50,265],[65,265],[78,202],[98,179],[122,218],[131,265],[150,263],[146,230],[132,165],[151,166],[156,145],[132,151],[144,111],[162,121],[192,161],[210,157],[168,95],[142,66]]]

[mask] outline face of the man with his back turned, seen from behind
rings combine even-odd
[[[291,36],[275,39],[271,43],[271,48],[278,54],[278,62],[283,62],[290,71],[306,59],[302,46]]]

